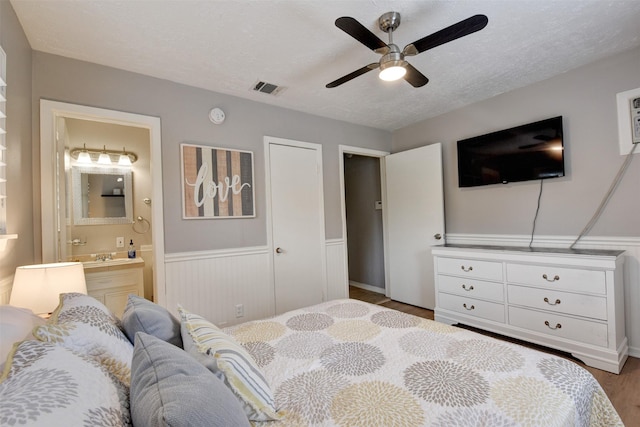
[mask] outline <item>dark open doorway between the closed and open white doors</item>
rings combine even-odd
[[[340,151],[349,296],[379,304],[388,301],[381,162],[388,153],[346,146]]]

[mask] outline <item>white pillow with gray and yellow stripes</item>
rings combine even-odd
[[[252,421],[279,420],[273,393],[257,364],[247,351],[214,324],[178,306],[183,330],[200,351],[213,358],[209,369],[239,398]],[[183,340],[185,337],[183,337]],[[216,372],[217,371],[217,372]]]

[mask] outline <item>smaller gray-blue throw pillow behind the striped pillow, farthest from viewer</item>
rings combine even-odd
[[[122,327],[132,343],[136,332],[145,332],[182,348],[180,322],[166,308],[137,295],[129,295]]]

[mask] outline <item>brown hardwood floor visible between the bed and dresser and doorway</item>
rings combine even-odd
[[[373,294],[373,295],[371,295]],[[380,301],[382,294],[376,294],[375,292],[366,291],[359,288],[349,287],[349,297],[372,302]],[[376,304],[376,302],[372,302]],[[404,313],[413,314],[414,316],[423,317],[425,319],[433,320],[433,311],[424,308],[416,307],[413,305],[403,304],[401,302],[392,301],[388,298],[381,300],[377,303],[387,308],[402,311]],[[619,375],[612,374],[610,372],[602,371],[600,369],[586,366],[584,363],[573,358],[570,354],[556,351],[547,347],[527,343],[524,341],[504,337],[502,335],[492,334],[480,329],[465,327],[466,329],[473,330],[475,332],[491,335],[498,339],[504,339],[511,342],[516,342],[527,347],[535,348],[536,350],[544,351],[547,353],[555,354],[561,357],[566,357],[580,366],[587,369],[600,383],[605,393],[613,403],[613,406],[618,411],[622,422],[627,426],[640,426],[640,359],[635,357],[629,357],[627,363],[622,368],[622,372]]]

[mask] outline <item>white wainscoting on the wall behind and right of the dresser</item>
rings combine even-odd
[[[447,234],[449,244],[528,246],[530,236]],[[534,247],[568,248],[575,237],[536,236]],[[624,250],[624,311],[625,328],[629,340],[629,355],[640,357],[640,238],[629,237],[585,237],[576,249]]]

